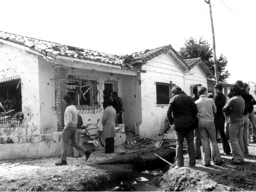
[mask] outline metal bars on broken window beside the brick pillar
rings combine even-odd
[[[100,112],[98,77],[67,75],[66,86],[78,113]]]

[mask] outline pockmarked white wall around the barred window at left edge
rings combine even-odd
[[[24,124],[40,125],[37,55],[0,42],[0,78],[20,75]]]

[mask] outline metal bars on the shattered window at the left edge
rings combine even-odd
[[[0,102],[0,127],[19,127],[24,118],[19,75],[0,80]]]

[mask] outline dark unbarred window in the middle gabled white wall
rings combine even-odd
[[[169,104],[172,84],[156,82],[156,104]]]

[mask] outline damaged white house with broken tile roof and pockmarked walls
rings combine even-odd
[[[103,97],[116,91],[125,130],[140,137],[163,133],[174,85],[190,95],[193,84],[207,87],[212,75],[200,58],[183,60],[171,45],[119,56],[1,31],[0,66],[0,127],[48,125],[49,132],[61,131],[66,93],[84,124],[96,122]]]

